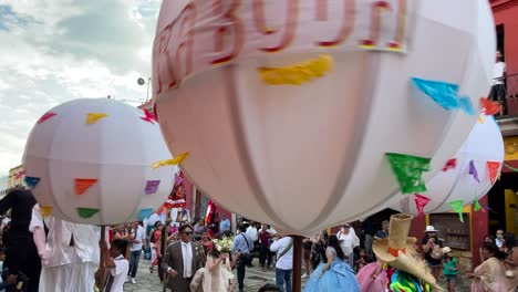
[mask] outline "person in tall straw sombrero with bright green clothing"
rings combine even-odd
[[[410,215],[398,213],[391,217],[388,237],[376,240],[373,251],[377,258],[393,267],[396,272],[390,279],[391,290],[400,291],[443,291],[429,272],[425,261],[416,252],[416,238],[410,238],[412,223]]]

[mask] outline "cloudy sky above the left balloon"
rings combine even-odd
[[[138,101],[162,0],[0,0],[0,176],[38,118],[80,97]],[[135,102],[128,102],[138,105]]]

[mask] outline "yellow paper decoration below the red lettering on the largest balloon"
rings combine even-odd
[[[301,85],[315,77],[323,76],[333,66],[331,55],[321,55],[318,59],[284,67],[258,67],[262,81],[271,85]]]

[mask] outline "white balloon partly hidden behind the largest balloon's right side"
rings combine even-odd
[[[504,161],[504,139],[493,116],[481,118],[484,123],[477,123],[473,128],[463,147],[452,158],[455,160],[449,160],[426,182],[426,192],[418,194],[429,199],[423,209],[425,213],[450,211],[450,202],[458,200],[464,206],[470,205],[475,198],[484,197],[496,182]],[[387,206],[401,212],[418,215],[415,200],[415,195],[400,194]]]

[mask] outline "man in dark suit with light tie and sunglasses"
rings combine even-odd
[[[170,243],[165,252],[162,268],[167,271],[167,289],[173,292],[189,292],[196,271],[205,267],[204,248],[191,242],[193,228],[188,225],[178,230],[180,240]]]

